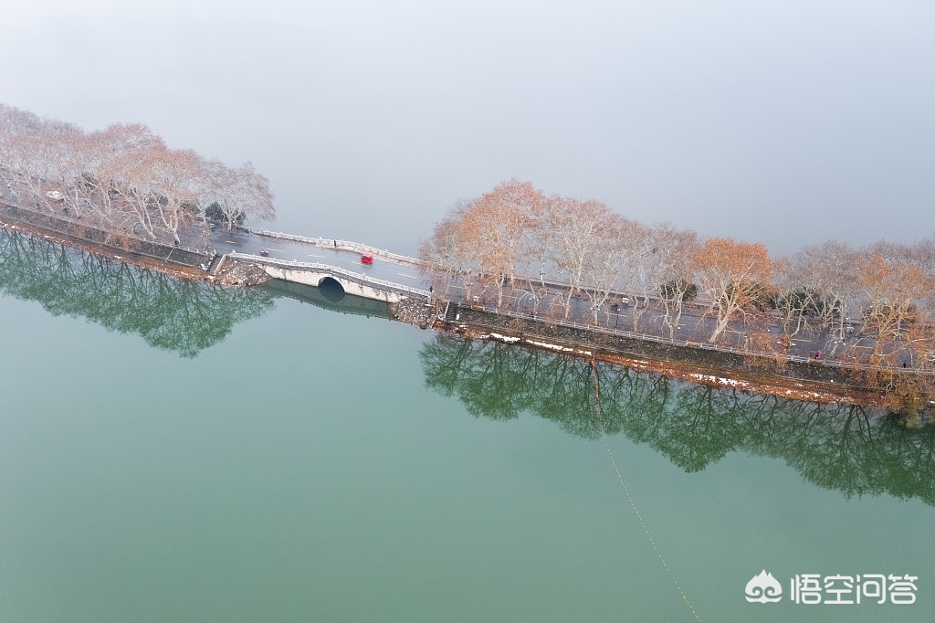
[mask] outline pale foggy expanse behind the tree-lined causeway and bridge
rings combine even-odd
[[[779,254],[935,232],[930,0],[7,5],[0,101],[252,160],[294,233],[412,253],[511,177]]]

